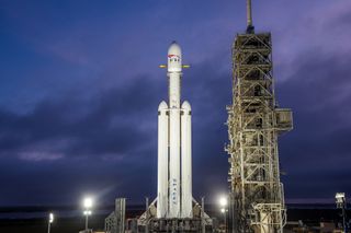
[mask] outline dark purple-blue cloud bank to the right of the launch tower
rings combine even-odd
[[[350,56],[314,50],[301,55],[295,72],[279,84],[283,106],[294,110],[294,130],[281,139],[290,197],[328,198],[351,191]]]

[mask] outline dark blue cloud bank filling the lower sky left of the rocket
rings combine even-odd
[[[112,199],[118,194],[132,200],[143,198],[138,186],[129,184],[151,182],[158,90],[156,82],[140,77],[89,101],[77,101],[77,93],[47,100],[24,115],[1,110],[1,171],[5,175],[0,182],[7,187],[2,202],[70,202],[70,195],[79,198],[84,190],[99,194],[109,187]],[[82,106],[90,110],[81,112]],[[150,193],[150,187],[141,190]],[[29,194],[30,199],[25,198]]]

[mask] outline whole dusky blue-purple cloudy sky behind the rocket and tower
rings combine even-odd
[[[286,200],[351,195],[351,1],[252,3],[294,113],[279,144]],[[228,189],[230,49],[245,28],[244,0],[0,0],[0,206],[155,198],[172,40],[191,65],[194,197],[214,202]]]

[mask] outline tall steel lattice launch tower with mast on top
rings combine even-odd
[[[283,232],[286,222],[278,137],[293,128],[292,112],[274,95],[270,33],[254,33],[251,0],[247,30],[233,45],[233,104],[228,110],[229,232]]]

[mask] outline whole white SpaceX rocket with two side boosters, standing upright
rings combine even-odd
[[[162,66],[166,67],[166,66]],[[168,49],[169,105],[158,108],[157,218],[192,218],[191,106],[180,106],[182,68],[180,46]]]

